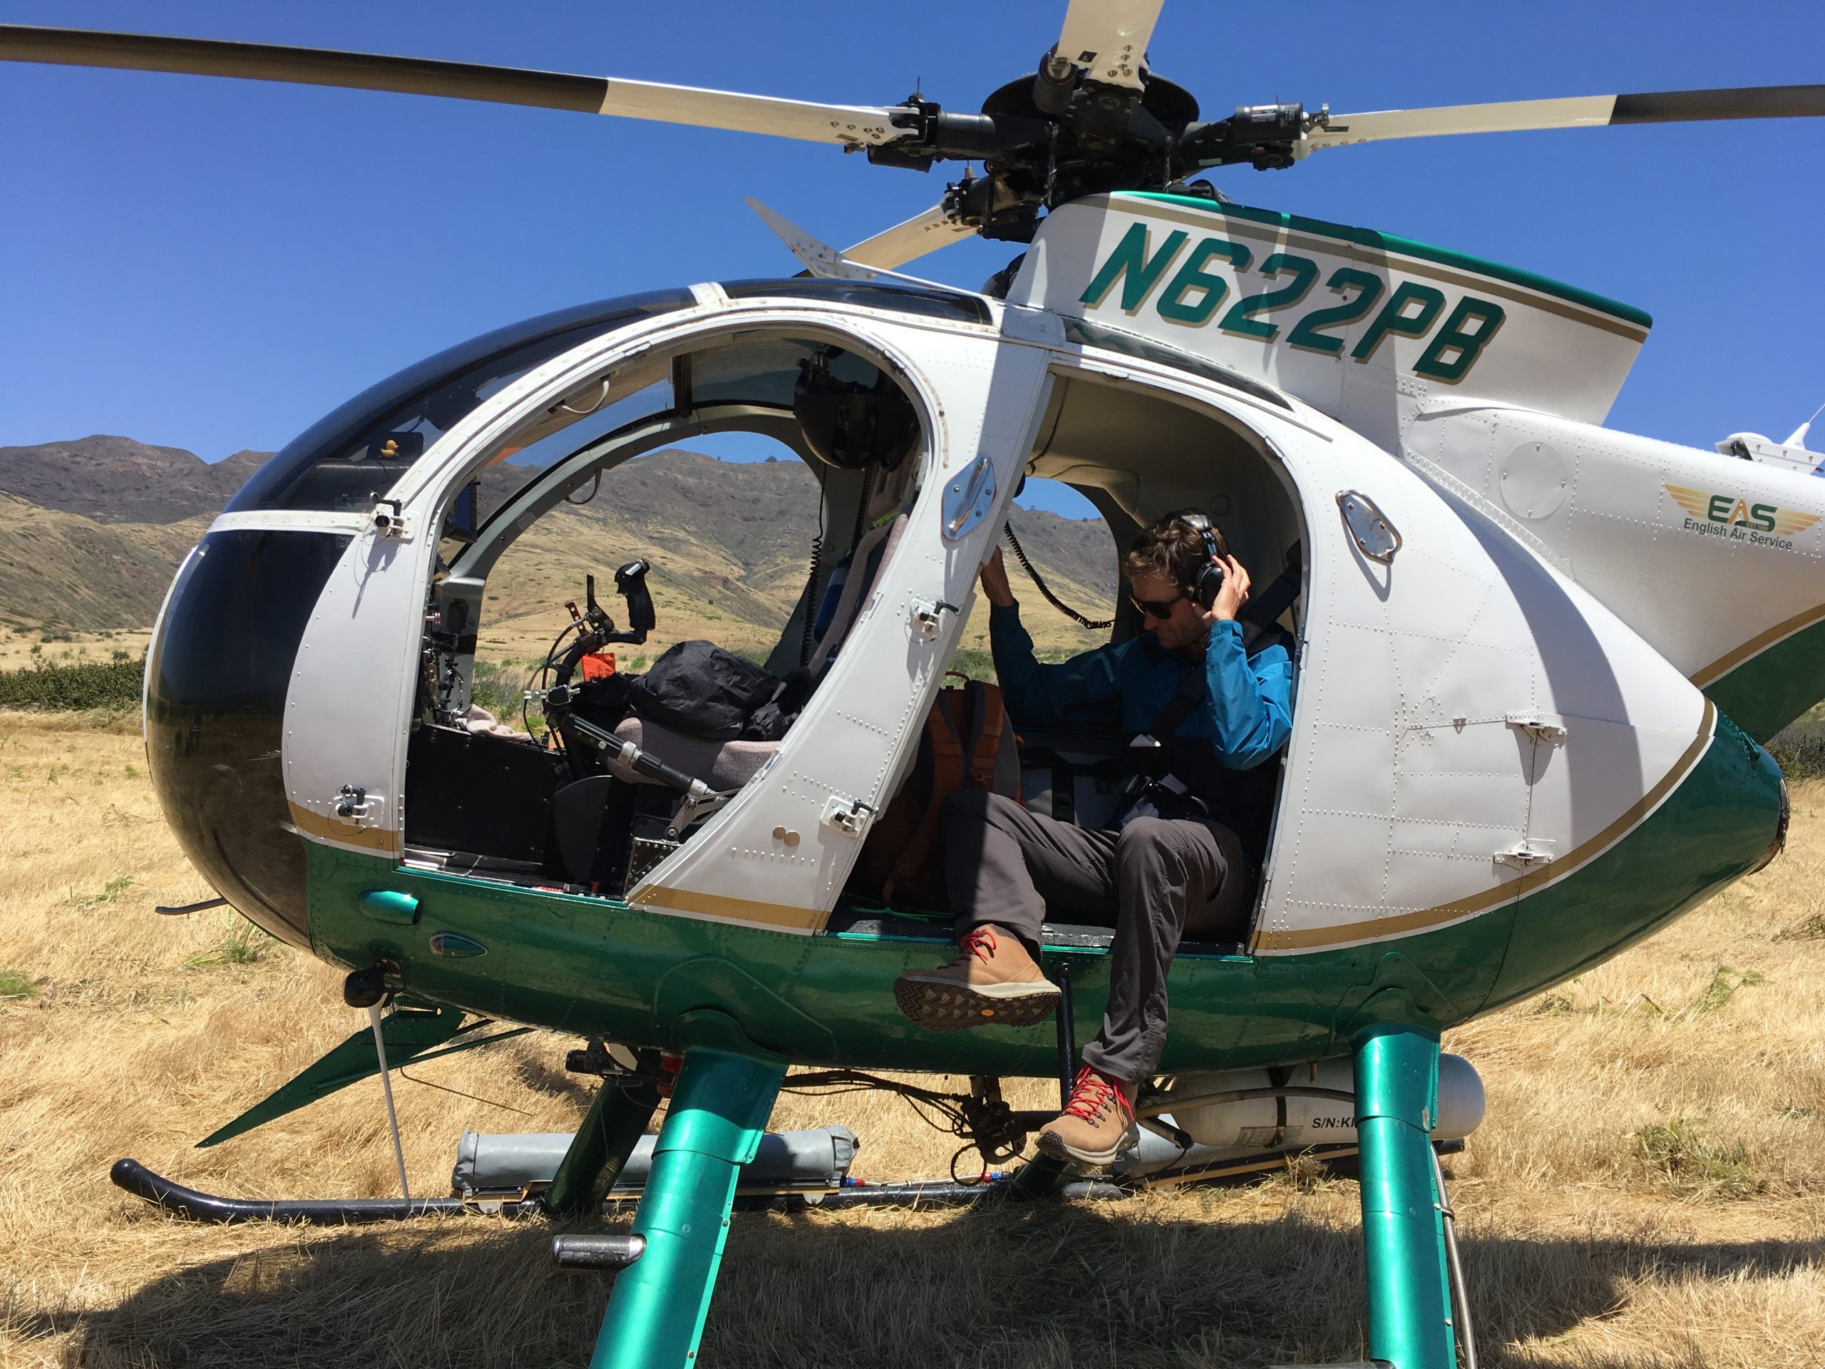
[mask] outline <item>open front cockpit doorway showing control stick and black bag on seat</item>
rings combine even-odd
[[[619,896],[688,843],[836,663],[927,433],[885,361],[763,332],[529,414],[451,493],[407,860]]]

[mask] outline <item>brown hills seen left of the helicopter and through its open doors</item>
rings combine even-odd
[[[184,551],[261,460],[245,451],[210,465],[177,447],[113,436],[0,447],[0,621],[148,626]],[[529,475],[491,467],[484,506]],[[673,449],[628,462],[602,476],[593,498],[555,509],[515,544],[489,582],[484,632],[518,622],[531,637],[548,619],[555,630],[584,575],[595,573],[606,595],[615,566],[648,557],[666,641],[706,635],[765,646],[805,584],[816,496],[816,478],[796,460],[719,462]],[[1100,522],[1020,511],[1017,526],[1066,601],[1108,610],[1115,559]],[[1091,643],[1013,573],[1042,644]],[[969,644],[980,644],[984,630],[973,624]]]

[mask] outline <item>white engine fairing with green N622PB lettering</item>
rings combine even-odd
[[[1197,206],[1132,195],[1091,197],[1060,206],[1033,241],[1009,290],[1009,303],[1082,318],[1210,358],[1298,396],[1387,451],[1394,451],[1403,423],[1434,394],[1473,394],[1486,403],[1509,403],[1601,423],[1648,334],[1644,323],[1555,294],[1546,288],[1549,281],[1535,287],[1520,274],[1482,274],[1471,259],[1440,261],[1420,256],[1405,250],[1402,239],[1360,235],[1305,219],[1265,223],[1263,217],[1281,215],[1250,214],[1223,204]],[[1163,252],[1170,252],[1170,257],[1144,290],[1132,290],[1132,277],[1124,272],[1099,292],[1095,303],[1086,301],[1086,292],[1099,283],[1099,272],[1137,228],[1146,257]],[[1363,237],[1372,241],[1358,241]],[[1175,239],[1179,246],[1172,248]],[[1212,241],[1223,250],[1204,246]],[[1237,265],[1243,256],[1245,261]],[[1292,268],[1267,274],[1263,268],[1276,256],[1294,259],[1281,263]],[[1246,319],[1232,318],[1245,298],[1296,285],[1303,270],[1299,261],[1316,266],[1303,296]],[[1175,294],[1179,272],[1192,266],[1212,285],[1197,287],[1186,279]],[[1303,321],[1321,310],[1347,308],[1360,298],[1358,287],[1330,285],[1340,279],[1340,272],[1371,277],[1376,283],[1369,287],[1376,290],[1372,305],[1354,321],[1314,329],[1301,345],[1296,338]],[[1403,287],[1424,296],[1407,312],[1418,314],[1425,299],[1436,298],[1436,312],[1427,327],[1420,336],[1372,332],[1383,307]],[[1194,321],[1210,294],[1221,298],[1208,314]],[[1502,310],[1500,321],[1462,378],[1424,374],[1429,349],[1465,298],[1496,305]],[[1274,329],[1274,336],[1250,336],[1245,329]],[[1330,343],[1338,347],[1325,350]],[[1363,347],[1367,354],[1358,360],[1356,352]],[[1453,356],[1447,350],[1440,360]]]

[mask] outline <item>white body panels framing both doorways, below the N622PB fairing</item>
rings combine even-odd
[[[902,549],[832,675],[768,768],[633,891],[650,911],[796,933],[823,925],[860,849],[825,812],[832,799],[878,810],[911,765],[976,568],[1031,451],[1051,363],[1102,369],[1225,414],[1256,433],[1298,487],[1309,529],[1303,644],[1257,953],[1475,916],[1517,894],[1522,867],[1504,863],[1517,851],[1540,862],[1529,887],[1562,878],[1646,818],[1642,796],[1690,761],[1708,725],[1681,672],[1548,557],[1314,407],[1281,411],[1183,371],[1068,347],[1057,318],[1038,310],[998,310],[1000,327],[984,329],[708,299],[506,387],[394,487],[407,538],[372,529],[352,538],[287,699],[287,790],[310,840],[402,854],[405,741],[433,570],[422,529],[438,526],[453,491],[527,414],[619,356],[734,323],[847,336],[894,361],[925,411],[927,467]],[[996,471],[996,511],[951,542],[940,531],[942,487],[978,455]],[[1336,504],[1347,489],[1400,529],[1391,566],[1352,542]],[[925,641],[911,610],[940,601],[962,611],[944,613]],[[1542,726],[1562,737],[1540,741]],[[341,785],[367,790],[365,827],[336,820]],[[799,840],[788,845],[776,831]]]

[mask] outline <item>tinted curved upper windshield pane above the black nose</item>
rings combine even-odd
[[[600,299],[438,352],[305,429],[228,500],[228,511],[367,509],[431,444],[533,367],[604,332],[692,303],[690,290]]]

